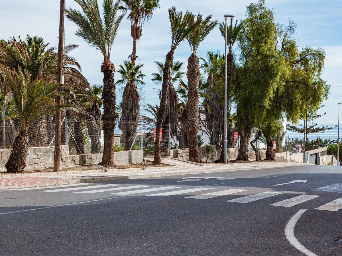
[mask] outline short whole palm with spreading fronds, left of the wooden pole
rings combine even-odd
[[[56,83],[45,84],[44,80],[34,80],[27,70],[18,68],[9,72],[0,65],[4,80],[12,92],[12,99],[18,111],[21,130],[14,140],[12,152],[5,164],[8,172],[24,171],[29,147],[28,128],[35,120],[56,113],[63,109],[71,109],[69,104],[56,104],[54,99],[64,93],[57,90]]]

